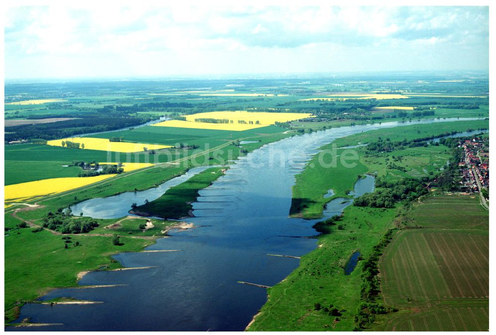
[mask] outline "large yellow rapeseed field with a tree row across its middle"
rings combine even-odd
[[[275,122],[286,122],[299,120],[301,118],[312,117],[309,113],[269,113],[269,112],[205,112],[191,115],[185,115],[186,121],[169,120],[153,124],[162,127],[180,127],[180,128],[197,128],[197,129],[216,129],[216,130],[248,130],[265,127],[275,124]],[[210,123],[195,122],[198,118],[228,119],[230,123]],[[239,123],[239,120],[247,123]],[[249,122],[253,122],[249,124]],[[258,122],[258,124],[257,124]]]

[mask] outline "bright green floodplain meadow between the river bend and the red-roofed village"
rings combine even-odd
[[[389,138],[390,141],[401,141],[403,139],[412,140],[415,138],[424,138],[433,135],[442,136],[448,131],[466,131],[468,129],[489,128],[489,120],[460,121],[446,123],[418,124],[411,126],[401,126],[389,129],[378,129],[367,131],[352,136],[347,136],[323,146],[321,149],[332,149],[333,147],[342,148],[354,146],[357,144],[368,143],[376,140],[378,137]],[[341,155],[347,149],[338,149],[337,155]],[[357,152],[363,153],[360,148]],[[290,215],[303,217],[306,219],[320,218],[324,205],[332,198],[323,198],[329,189],[333,189],[335,198],[346,196],[346,191],[353,188],[353,182],[357,175],[361,173],[377,172],[377,175],[387,176],[392,180],[397,180],[406,176],[425,176],[430,170],[433,170],[434,164],[440,166],[439,156],[447,159],[443,154],[447,148],[430,147],[412,148],[401,150],[400,152],[391,152],[387,157],[366,157],[360,155],[360,161],[356,162],[355,168],[345,168],[340,160],[336,160],[336,168],[325,168],[319,164],[318,154],[309,162],[307,168],[296,176],[296,184],[293,186],[293,201]],[[442,157],[444,155],[444,157]],[[328,155],[327,155],[328,156]],[[399,170],[387,170],[386,159],[393,161],[393,156],[402,156],[403,164],[408,172]],[[330,157],[326,157],[326,163],[330,162]],[[424,171],[427,169],[427,172]],[[339,176],[339,177],[337,177]],[[351,185],[351,187],[350,187]]]

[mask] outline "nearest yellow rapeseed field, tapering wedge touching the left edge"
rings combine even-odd
[[[50,178],[29,181],[4,187],[5,202],[34,200],[43,196],[62,193],[74,188],[93,184],[116,174],[101,174],[94,177]]]

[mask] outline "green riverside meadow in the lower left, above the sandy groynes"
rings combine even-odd
[[[17,228],[18,223],[19,220],[6,216],[5,322],[14,320],[25,302],[50,289],[76,286],[80,272],[120,267],[112,262],[112,254],[139,251],[153,243],[153,239],[123,236],[122,245],[114,245],[112,236],[84,234],[74,235],[71,243],[65,243],[62,235],[44,229],[35,232],[37,228]]]

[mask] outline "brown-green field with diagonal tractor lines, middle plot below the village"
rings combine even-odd
[[[477,233],[402,231],[381,263],[384,300],[416,306],[436,299],[486,297],[488,242],[487,235]]]

